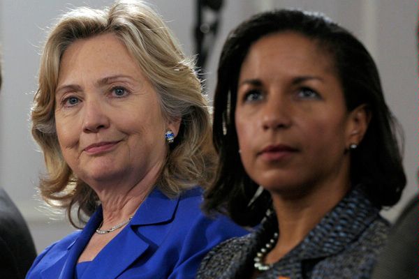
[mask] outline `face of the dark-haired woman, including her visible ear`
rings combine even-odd
[[[312,40],[275,33],[251,46],[235,127],[244,169],[267,190],[348,183],[345,149],[360,140],[358,114],[347,112],[333,63]]]

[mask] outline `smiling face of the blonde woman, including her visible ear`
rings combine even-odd
[[[76,40],[61,59],[55,123],[66,163],[83,181],[138,183],[165,160],[159,96],[113,34]]]

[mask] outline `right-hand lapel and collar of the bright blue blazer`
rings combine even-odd
[[[162,234],[162,229],[156,229],[154,225],[170,223],[178,200],[169,199],[160,190],[154,189],[141,204],[129,226],[99,252],[82,278],[117,278],[144,255],[149,246],[159,246],[166,234]]]

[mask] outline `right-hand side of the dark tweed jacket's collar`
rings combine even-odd
[[[379,209],[369,202],[359,188],[355,188],[322,218],[298,246],[274,264],[273,269],[284,275],[288,273],[293,278],[306,273],[302,271],[303,262],[306,266],[314,265],[321,259],[342,252],[358,239],[378,214]],[[255,243],[258,247],[263,245],[258,239]]]

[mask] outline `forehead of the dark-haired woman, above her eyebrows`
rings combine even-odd
[[[260,75],[316,73],[336,75],[333,55],[318,40],[287,31],[272,33],[257,40],[249,48],[240,72]]]

